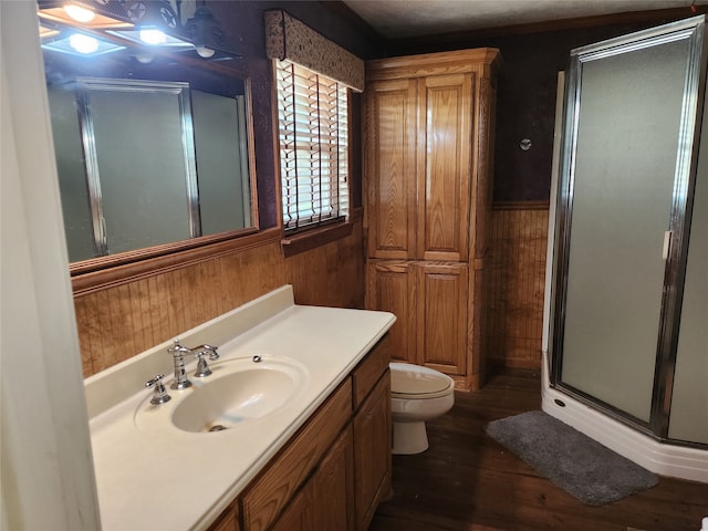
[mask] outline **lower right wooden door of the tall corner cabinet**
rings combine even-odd
[[[446,374],[467,373],[466,263],[416,263],[417,350],[420,363]]]

